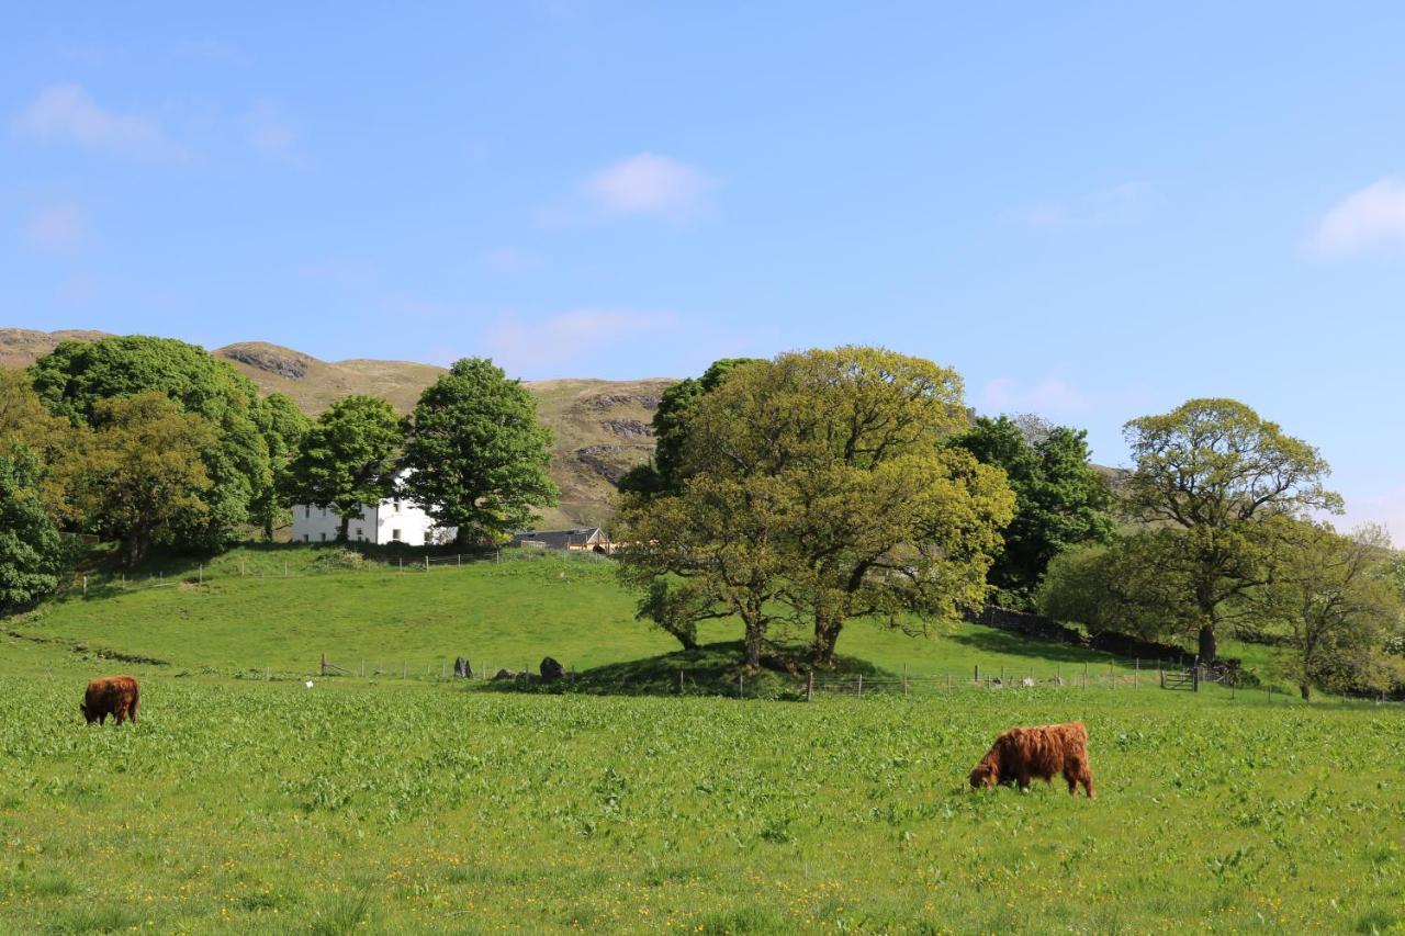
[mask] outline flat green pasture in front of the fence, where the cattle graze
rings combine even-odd
[[[1384,932],[1391,708],[1038,689],[506,696],[0,680],[0,932]],[[971,793],[1082,718],[1097,798]]]

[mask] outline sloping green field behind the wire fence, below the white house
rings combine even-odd
[[[129,589],[94,576],[87,597],[70,593],[13,618],[7,630],[59,646],[76,642],[87,651],[170,663],[149,672],[225,676],[266,670],[302,676],[318,670],[323,654],[355,672],[365,661],[368,672],[395,676],[423,676],[426,668],[437,675],[459,655],[475,669],[483,663],[495,670],[535,669],[551,655],[584,670],[679,648],[672,637],[634,620],[634,597],[615,585],[608,561],[535,554],[535,559],[430,572],[400,572],[393,565],[316,572],[332,552],[240,550],[202,571],[188,562],[157,566],[163,587],[150,587],[155,571],[136,576],[139,587]],[[204,583],[195,585],[197,578]],[[701,637],[721,641],[738,634],[714,624]],[[791,638],[802,641],[804,634]],[[969,676],[979,666],[982,675],[1033,673],[1041,682],[1055,675],[1073,679],[1085,665],[1096,679],[1111,663],[1104,654],[979,625],[913,638],[861,621],[844,631],[839,649],[889,673],[906,666],[913,675]],[[1121,663],[1114,669],[1130,673]]]

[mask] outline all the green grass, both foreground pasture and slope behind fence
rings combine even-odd
[[[863,623],[850,676],[965,679],[809,704],[718,697],[721,677],[683,698],[492,691],[423,668],[551,654],[613,691],[731,655],[676,654],[608,564],[326,555],[94,576],[0,623],[0,932],[1405,928],[1398,707],[1134,690],[1123,668],[1085,690],[1106,656]],[[309,689],[322,652],[386,672]],[[975,665],[1041,682],[976,687]],[[142,679],[140,724],[83,725],[101,672]],[[1097,800],[965,787],[1000,729],[1073,718]]]

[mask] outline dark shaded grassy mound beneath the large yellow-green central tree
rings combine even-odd
[[[587,696],[725,696],[745,698],[804,698],[809,663],[804,648],[773,646],[762,666],[743,665],[742,641],[705,644],[690,651],[607,663],[545,682],[518,675],[488,683],[492,691],[579,693]],[[818,677],[892,679],[892,673],[864,659],[836,656],[833,669]]]

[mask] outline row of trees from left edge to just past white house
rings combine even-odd
[[[346,520],[402,495],[461,542],[492,540],[555,502],[549,446],[531,395],[481,358],[457,363],[405,419],[351,396],[309,422],[183,342],[65,342],[27,371],[0,371],[0,610],[56,587],[59,530],[119,541],[136,564],[153,547],[271,538],[292,503]]]

